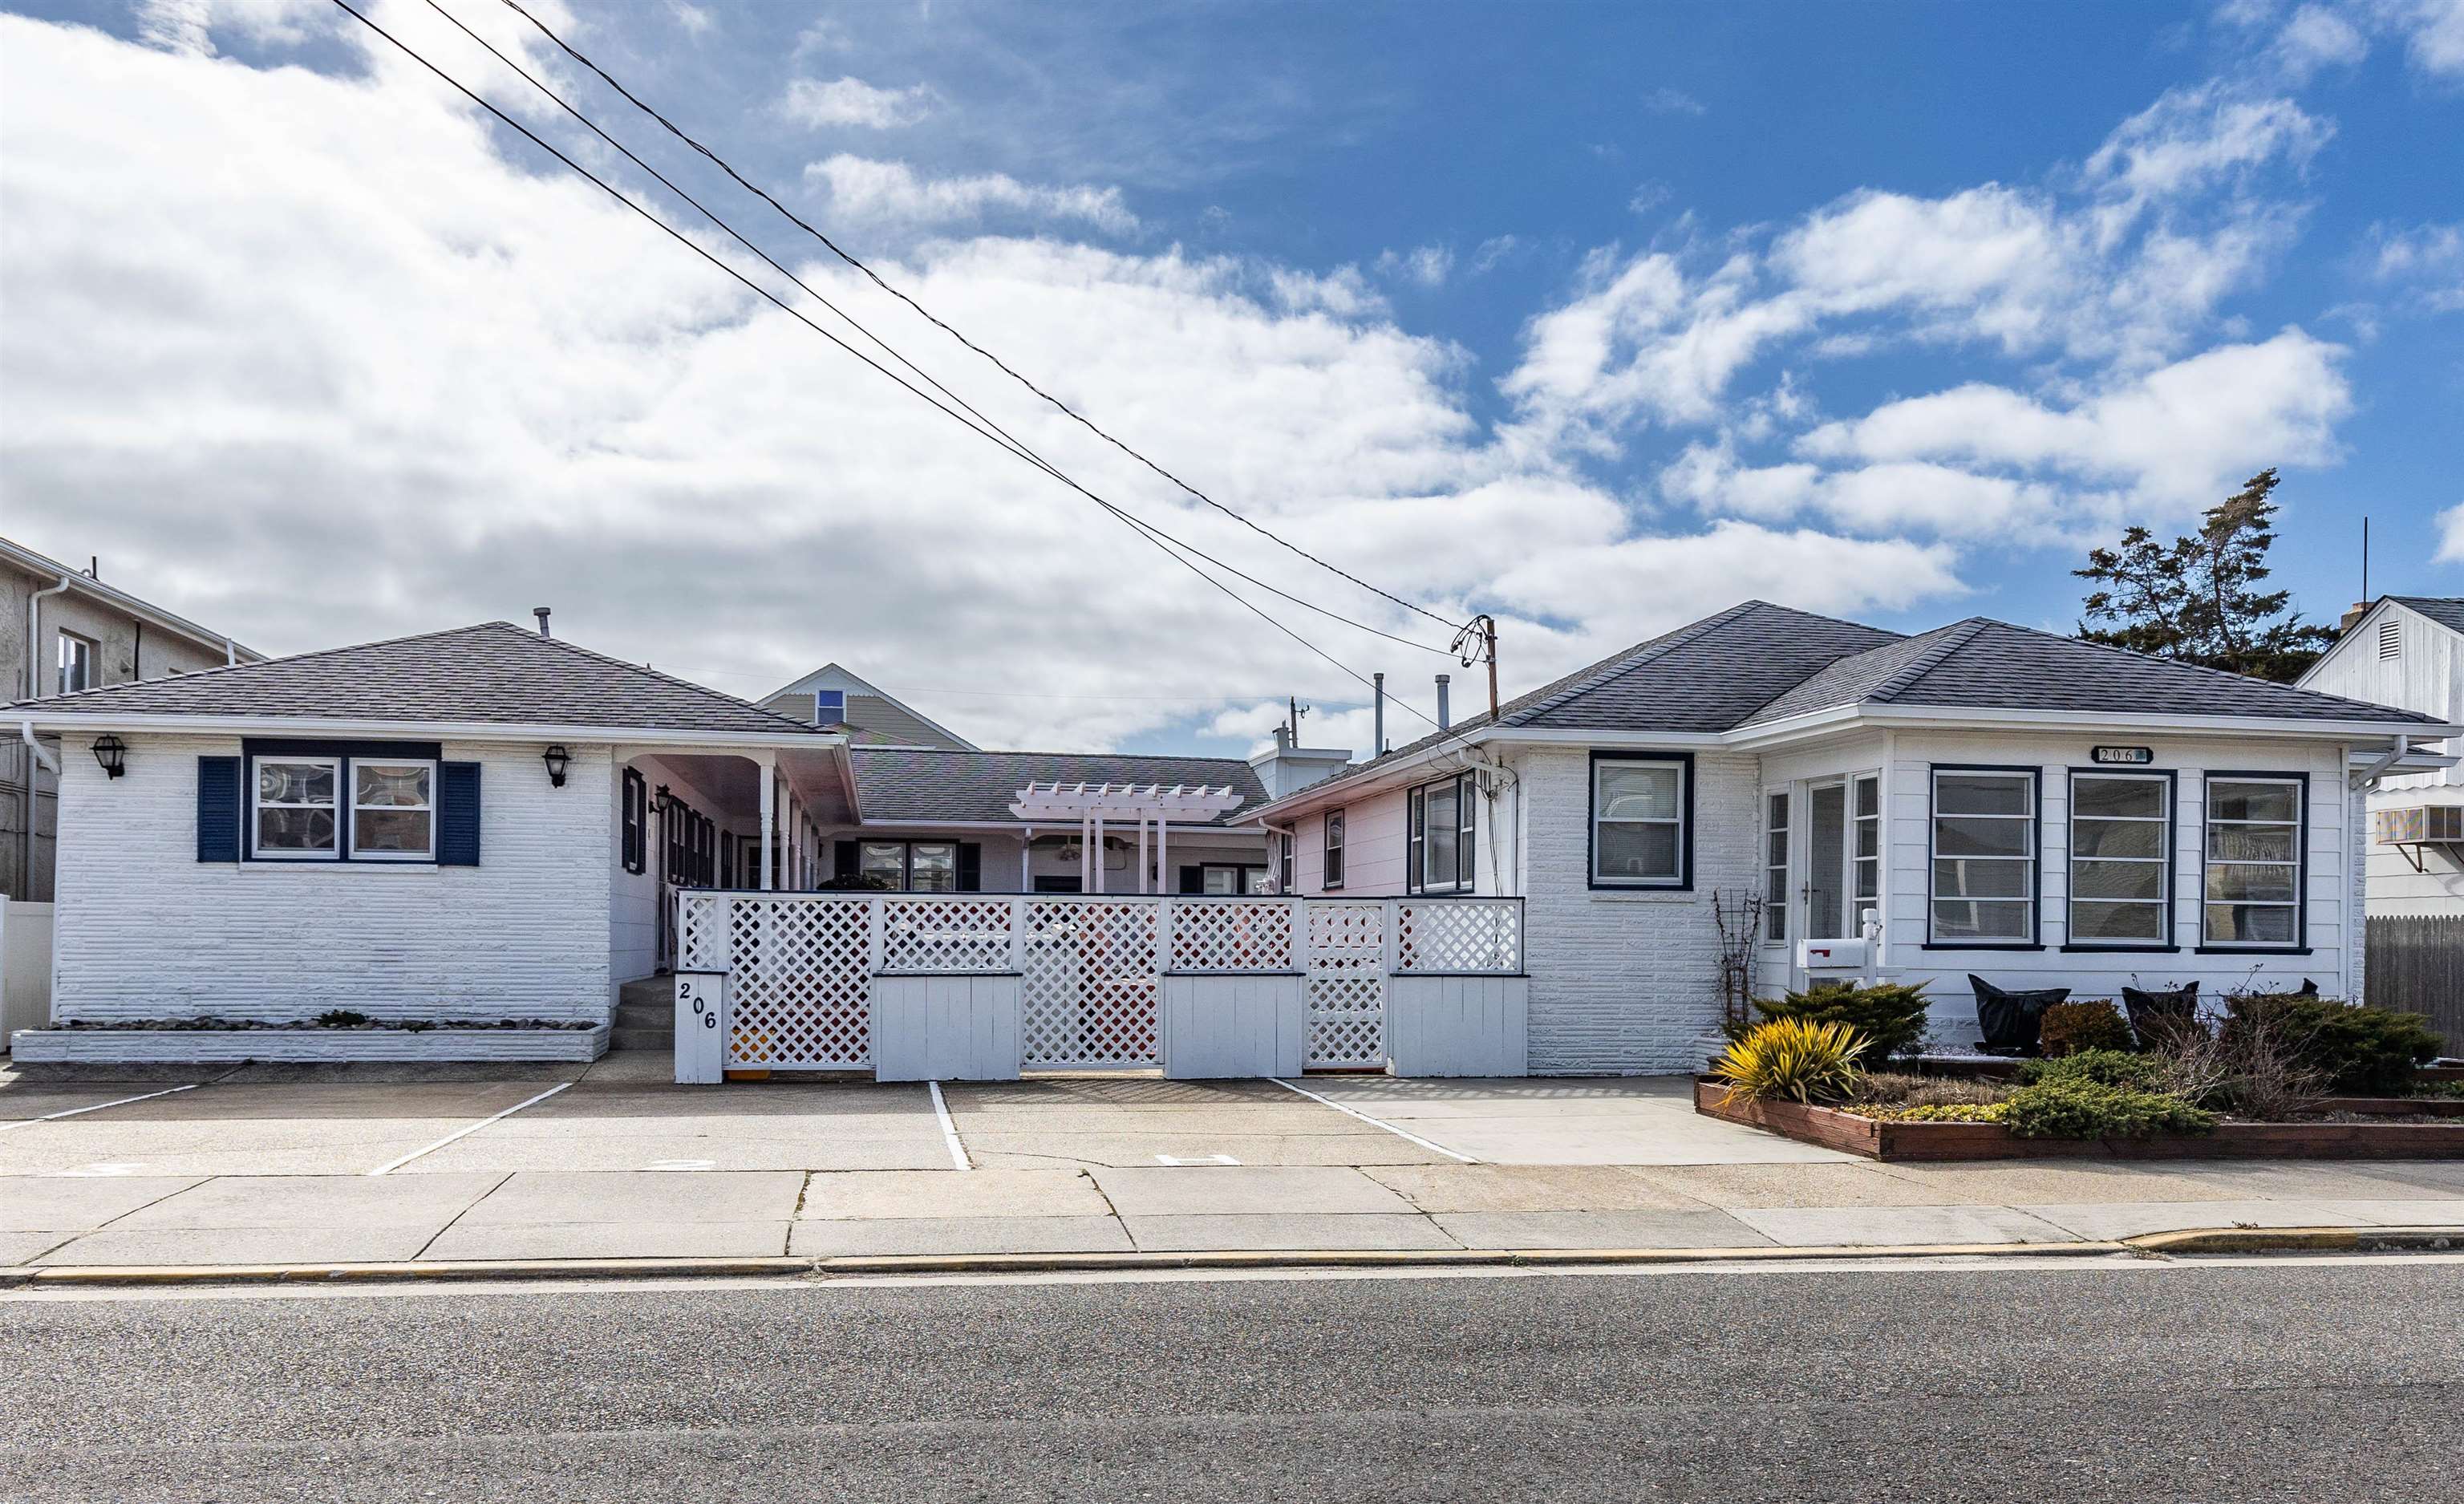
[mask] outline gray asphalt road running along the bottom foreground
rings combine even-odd
[[[0,1499],[2464,1497],[2464,1262],[0,1302]]]

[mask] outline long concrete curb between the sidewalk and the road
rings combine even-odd
[[[2114,1243],[1873,1243],[1846,1248],[1397,1248],[1215,1253],[919,1253],[880,1257],[522,1257],[367,1265],[10,1267],[0,1287],[402,1285],[453,1280],[695,1280],[853,1275],[1092,1275],[1156,1270],[1478,1270],[1700,1262],[1858,1262],[1880,1257],[2107,1257],[2198,1253],[2459,1253],[2464,1228],[2188,1228]]]

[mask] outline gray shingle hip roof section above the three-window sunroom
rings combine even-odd
[[[1969,616],[1873,653],[1841,658],[1745,717],[1742,725],[1767,725],[1860,703],[2104,715],[2439,720],[2417,710],[2365,705],[2341,695],[2296,690],[2287,683]]]

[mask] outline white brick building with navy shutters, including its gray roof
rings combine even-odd
[[[62,1023],[352,1011],[596,1053],[670,883],[811,885],[853,809],[843,737],[508,621],[12,717],[62,789]],[[552,1031],[488,1053],[577,1048]]]

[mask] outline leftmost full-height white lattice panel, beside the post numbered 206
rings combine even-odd
[[[727,1063],[793,1070],[872,1065],[870,905],[717,902],[727,905],[729,939]],[[692,912],[690,902],[685,912]]]

